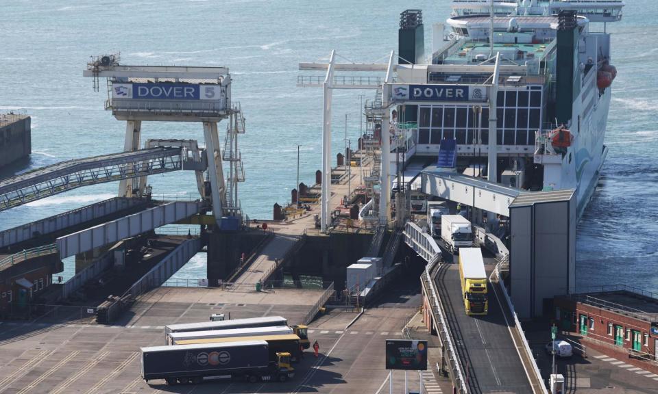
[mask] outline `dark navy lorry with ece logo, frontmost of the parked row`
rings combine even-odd
[[[167,384],[198,384],[228,378],[285,382],[295,376],[290,354],[271,352],[266,341],[154,346],[140,350],[142,378],[146,382],[164,379]]]

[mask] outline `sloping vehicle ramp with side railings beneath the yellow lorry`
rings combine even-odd
[[[441,339],[441,369],[450,372],[459,393],[546,393],[498,276],[489,283],[489,313],[467,316],[459,265],[444,263],[437,242],[411,222],[405,225],[404,241],[428,261],[422,276],[424,307]]]

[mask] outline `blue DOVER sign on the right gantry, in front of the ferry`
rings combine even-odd
[[[393,85],[391,101],[486,101],[486,86]]]

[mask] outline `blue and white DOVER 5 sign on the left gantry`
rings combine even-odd
[[[225,96],[223,87],[219,85],[112,83],[112,99],[221,101]]]

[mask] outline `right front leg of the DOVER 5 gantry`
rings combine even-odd
[[[206,140],[206,154],[208,155],[212,213],[214,213],[215,222],[219,226],[226,202],[226,185],[224,184],[224,174],[221,168],[217,122],[204,122],[204,139]]]

